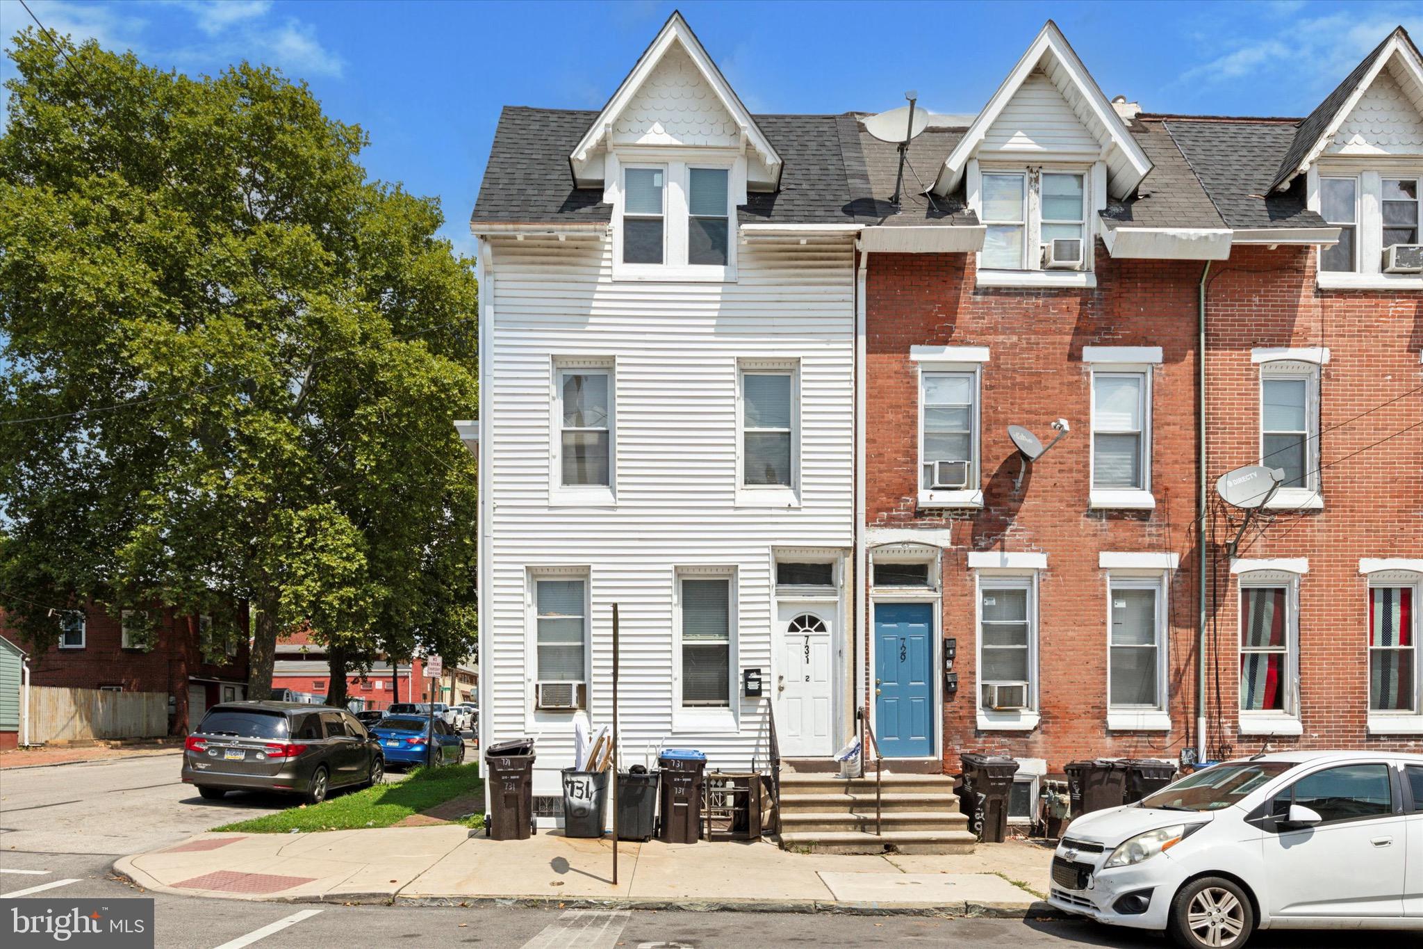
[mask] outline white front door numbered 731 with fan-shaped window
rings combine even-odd
[[[781,757],[835,753],[831,736],[834,608],[781,603],[777,612],[776,734]]]

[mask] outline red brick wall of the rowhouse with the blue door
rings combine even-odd
[[[958,639],[958,694],[943,706],[945,770],[959,751],[1067,761],[1174,757],[1190,744],[1194,690],[1197,262],[1113,260],[1099,248],[1096,290],[975,290],[969,255],[871,255],[867,282],[867,519],[946,528],[943,635]],[[988,346],[983,366],[982,512],[916,509],[918,386],[911,346]],[[1090,377],[1084,346],[1160,346],[1151,380],[1151,512],[1089,509]],[[1013,492],[1019,458],[1006,427],[1063,438]],[[869,539],[874,544],[874,538]],[[975,578],[969,551],[1047,553],[1039,580],[1039,707],[1032,733],[979,731],[975,719]],[[1106,727],[1107,589],[1101,551],[1177,552],[1168,583],[1173,730]],[[871,626],[872,629],[872,626]]]

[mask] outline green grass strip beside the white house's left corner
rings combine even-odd
[[[310,807],[303,804],[212,829],[245,834],[290,834],[293,831],[353,831],[367,827],[390,827],[411,814],[420,814],[462,794],[484,794],[484,781],[480,778],[477,763],[416,768],[408,778],[398,784],[381,784],[363,791],[337,794]],[[482,825],[478,817],[462,822],[467,827]]]

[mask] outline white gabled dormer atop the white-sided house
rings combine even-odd
[[[736,209],[781,157],[673,13],[569,155],[613,208],[613,276],[736,279]]]

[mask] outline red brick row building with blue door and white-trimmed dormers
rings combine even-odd
[[[1049,24],[914,141],[928,195],[861,134],[862,672],[899,768],[1417,747],[1423,276],[1385,249],[1419,243],[1420,117],[1402,28],[1301,121],[1109,104]],[[1007,425],[1057,418],[1025,464]],[[1265,455],[1232,559],[1214,482]]]

